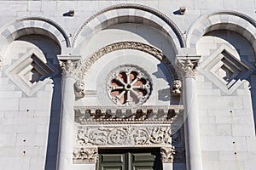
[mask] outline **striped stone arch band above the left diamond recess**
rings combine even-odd
[[[60,45],[61,49],[71,47],[66,32],[57,23],[42,17],[26,17],[15,20],[15,22],[9,24],[9,26],[6,26],[1,31],[1,52],[3,53],[10,42],[30,34],[40,34],[50,37]]]

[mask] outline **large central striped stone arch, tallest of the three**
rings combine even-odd
[[[162,14],[154,8],[134,3],[113,5],[90,16],[74,35],[72,46],[75,47],[81,39],[94,31],[125,22],[145,24],[164,31],[168,37],[172,38],[176,49],[186,46],[183,33],[166,14]]]

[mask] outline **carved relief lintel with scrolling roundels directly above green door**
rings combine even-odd
[[[77,146],[89,145],[170,145],[169,126],[79,126]]]

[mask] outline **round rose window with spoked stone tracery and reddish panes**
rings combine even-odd
[[[120,67],[108,79],[108,96],[117,105],[143,104],[150,92],[148,77],[135,67]]]

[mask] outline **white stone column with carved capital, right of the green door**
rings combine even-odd
[[[202,170],[195,68],[200,56],[177,56],[177,67],[183,74],[184,133],[187,170]]]

